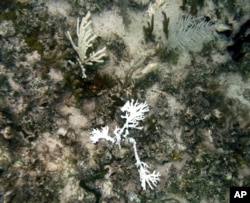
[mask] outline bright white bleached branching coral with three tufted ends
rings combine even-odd
[[[146,185],[151,189],[157,186],[157,183],[160,181],[160,173],[153,171],[150,173],[149,167],[146,163],[140,161],[139,155],[137,153],[136,141],[134,138],[127,137],[129,135],[129,130],[133,128],[140,129],[138,127],[139,121],[142,121],[145,118],[145,113],[149,111],[148,104],[146,102],[139,103],[138,101],[127,101],[125,105],[121,108],[122,112],[125,112],[125,115],[122,115],[121,118],[125,118],[126,122],[122,128],[116,127],[114,130],[115,138],[111,137],[109,133],[109,127],[103,127],[101,130],[93,129],[90,132],[90,139],[93,143],[98,142],[100,139],[105,139],[116,145],[120,146],[122,140],[128,140],[133,144],[136,167],[138,168],[140,175],[140,182],[143,190],[146,190]]]

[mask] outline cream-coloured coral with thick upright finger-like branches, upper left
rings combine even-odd
[[[93,46],[93,41],[96,39],[96,35],[93,33],[91,28],[92,21],[90,20],[91,14],[87,13],[85,17],[82,18],[80,23],[79,18],[77,19],[76,34],[78,37],[77,45],[74,43],[70,32],[67,31],[67,36],[70,40],[73,49],[77,52],[79,58],[78,62],[82,69],[82,77],[86,78],[84,65],[92,65],[94,62],[102,63],[103,57],[106,56],[106,47],[98,50],[97,52],[92,52],[87,56],[87,50]]]

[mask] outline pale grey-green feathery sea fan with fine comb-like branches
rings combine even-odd
[[[199,50],[205,42],[209,42],[214,36],[214,27],[211,21],[205,21],[201,17],[188,15],[176,23],[171,22],[168,27],[168,39],[166,47],[168,51],[177,49]]]

